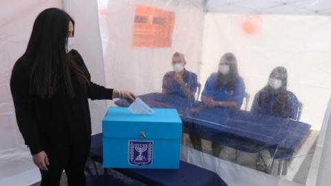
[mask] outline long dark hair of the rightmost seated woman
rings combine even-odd
[[[279,80],[281,80],[281,87],[277,90],[274,90],[269,83],[265,85],[265,87],[261,90],[259,95],[258,106],[260,108],[263,107],[265,103],[268,103],[272,99],[272,95],[276,95],[276,100],[274,101],[274,105],[272,105],[272,114],[276,114],[278,116],[282,116],[284,118],[290,118],[289,115],[292,112],[288,112],[291,107],[290,105],[290,96],[288,95],[288,72],[286,68],[277,67],[272,70],[270,73],[269,79],[274,77],[274,74],[280,74]]]

